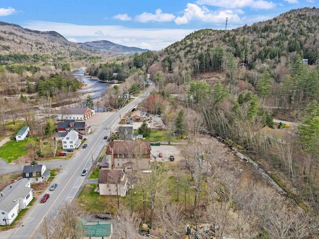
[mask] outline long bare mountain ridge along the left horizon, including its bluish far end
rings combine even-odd
[[[128,56],[148,51],[110,41],[76,43],[56,31],[38,31],[0,21],[0,55],[40,55],[41,60],[75,59],[88,55]],[[10,58],[10,57],[9,57]],[[10,62],[2,57],[2,63]],[[12,58],[11,58],[12,59]]]

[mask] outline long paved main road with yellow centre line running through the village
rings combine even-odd
[[[43,239],[44,220],[49,215],[54,215],[55,212],[63,205],[63,203],[71,202],[78,194],[82,185],[86,182],[86,177],[92,170],[92,158],[97,160],[106,141],[104,135],[110,135],[111,128],[120,120],[120,115],[131,111],[144,97],[148,96],[151,89],[154,88],[154,83],[149,81],[149,87],[140,97],[136,98],[130,104],[120,109],[119,112],[111,115],[95,128],[94,132],[87,137],[87,148],[79,148],[71,160],[54,160],[46,162],[48,168],[62,166],[61,172],[54,178],[53,183],[57,183],[58,187],[54,191],[48,191],[50,198],[47,202],[41,204],[36,200],[33,206],[28,210],[26,215],[20,220],[16,228],[0,233],[0,239]],[[106,126],[110,125],[108,129]],[[82,170],[88,168],[89,173],[87,176],[81,176]],[[21,169],[20,169],[21,172]],[[42,229],[42,232],[41,232]],[[50,233],[50,232],[49,232]]]

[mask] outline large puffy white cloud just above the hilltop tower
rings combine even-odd
[[[207,7],[199,7],[193,3],[187,3],[184,15],[176,17],[174,20],[177,25],[186,24],[191,20],[200,20],[203,22],[221,23],[225,22],[226,17],[229,21],[240,22],[240,17],[232,10],[211,11]]]

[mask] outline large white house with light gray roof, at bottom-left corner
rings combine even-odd
[[[32,199],[32,188],[26,178],[5,187],[0,193],[0,225],[10,225]]]

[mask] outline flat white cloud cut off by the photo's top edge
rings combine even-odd
[[[272,1],[265,0],[197,0],[197,4],[227,8],[250,7],[253,9],[271,9],[276,6]]]

